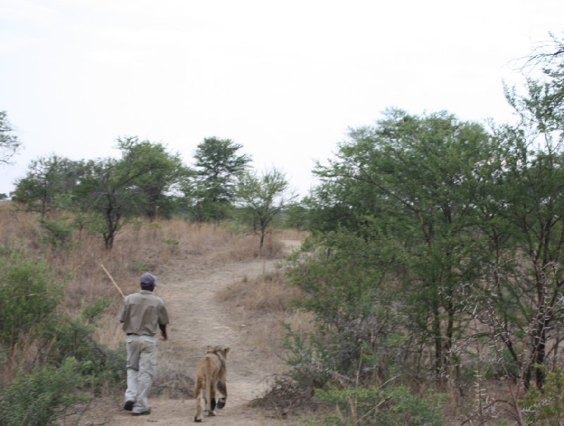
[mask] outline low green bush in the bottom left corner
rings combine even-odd
[[[59,368],[20,372],[0,393],[0,424],[54,425],[73,404],[87,401],[87,394],[80,391],[86,383],[82,365],[74,358],[66,358]]]

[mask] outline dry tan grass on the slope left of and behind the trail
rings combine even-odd
[[[47,220],[64,221],[66,216],[53,213]],[[182,261],[188,268],[207,268],[217,261],[276,258],[283,256],[283,245],[278,238],[269,236],[259,253],[257,236],[235,234],[226,225],[137,219],[118,233],[111,251],[104,248],[100,235],[85,230],[75,230],[67,244],[58,246],[45,238],[37,214],[19,211],[10,201],[2,201],[0,256],[12,251],[47,261],[56,279],[64,284],[61,306],[68,315],[78,315],[85,306],[104,297],[111,300],[106,313],[97,320],[95,335],[99,342],[116,347],[122,340],[115,320],[121,296],[102,265],[121,291],[130,294],[137,292],[142,272],[159,275],[173,261]]]

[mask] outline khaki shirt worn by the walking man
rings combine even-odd
[[[126,296],[118,318],[123,322],[123,331],[128,334],[154,336],[159,332],[159,325],[168,324],[168,312],[163,299],[148,290]]]

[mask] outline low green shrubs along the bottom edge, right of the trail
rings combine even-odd
[[[440,426],[443,396],[417,396],[403,386],[355,387],[315,391],[336,415],[307,420],[308,426]]]

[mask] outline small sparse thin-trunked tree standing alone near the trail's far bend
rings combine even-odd
[[[269,225],[281,215],[286,203],[295,198],[293,195],[285,198],[287,190],[288,181],[280,170],[272,169],[262,176],[250,172],[239,175],[235,199],[252,218],[253,230],[260,234],[260,250]]]

